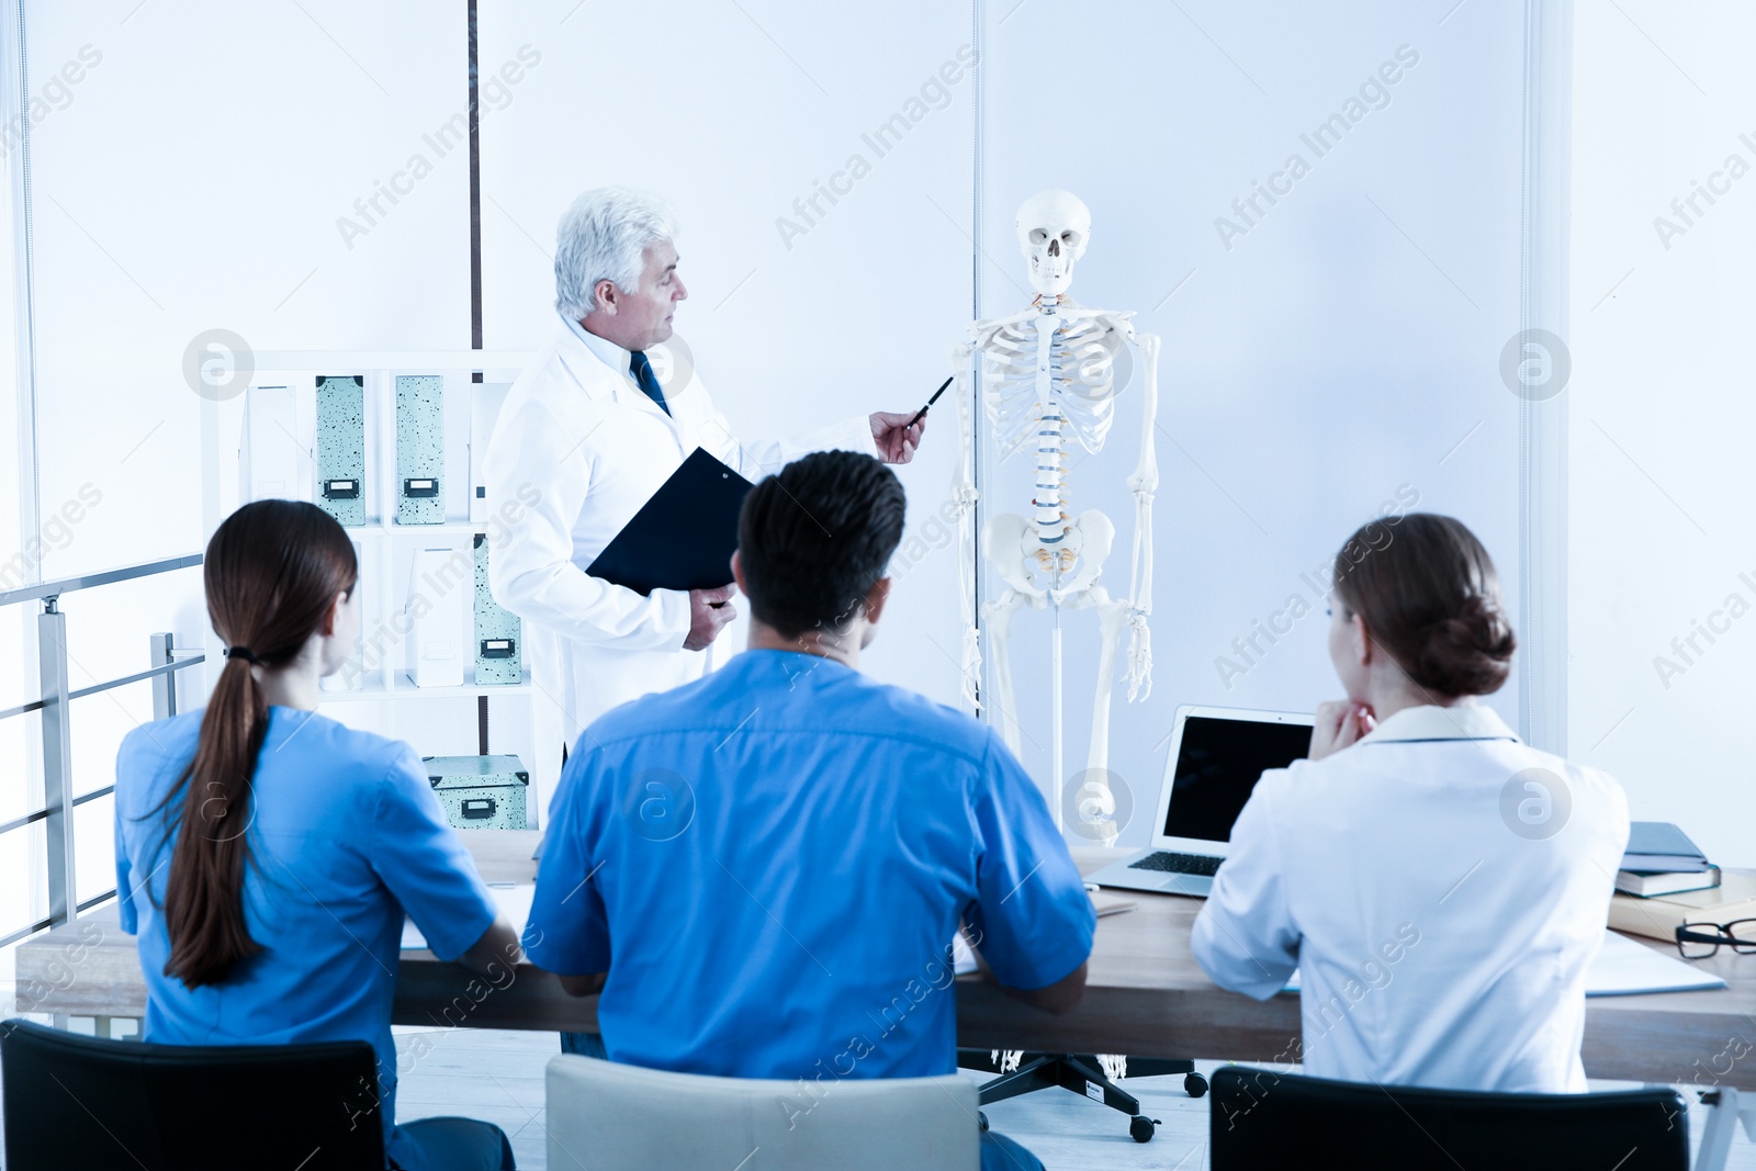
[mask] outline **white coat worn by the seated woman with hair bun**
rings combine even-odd
[[[1263,774],[1194,955],[1256,999],[1298,966],[1312,1076],[1582,1092],[1586,967],[1626,844],[1607,774],[1486,706],[1410,708]],[[1299,1059],[1289,1041],[1282,1060]]]

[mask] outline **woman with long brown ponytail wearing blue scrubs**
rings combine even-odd
[[[207,544],[227,644],[207,706],[128,734],[116,758],[116,890],[140,938],[146,1039],[378,1050],[362,1124],[393,1167],[511,1167],[469,1118],[395,1125],[390,1002],[402,920],[504,981],[522,955],[446,823],[420,757],[318,715],[360,629],[346,532],[293,500],[246,504]]]

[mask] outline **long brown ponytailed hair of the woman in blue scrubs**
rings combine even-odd
[[[221,983],[237,962],[262,952],[244,920],[251,781],[269,730],[251,664],[274,669],[299,658],[335,595],[351,592],[356,576],[353,542],[314,504],[246,504],[207,542],[207,618],[237,650],[220,672],[195,758],[179,778],[188,788],[165,880],[165,974],[190,988]],[[160,809],[176,795],[172,788]]]

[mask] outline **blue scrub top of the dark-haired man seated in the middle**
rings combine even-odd
[[[1011,987],[1090,953],[1090,899],[1036,785],[962,713],[760,650],[579,737],[525,948],[609,973],[613,1060],[927,1076],[957,1062],[959,916]]]

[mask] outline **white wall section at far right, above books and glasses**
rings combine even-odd
[[[1608,769],[1637,818],[1751,866],[1756,177],[1716,172],[1733,154],[1756,169],[1740,137],[1756,139],[1740,54],[1756,12],[1582,4],[1575,30],[1570,751]],[[1730,190],[1672,209],[1709,183]],[[1696,634],[1709,621],[1721,632]]]

